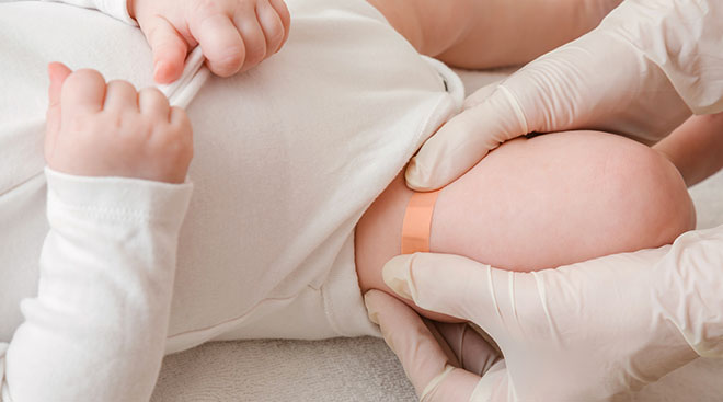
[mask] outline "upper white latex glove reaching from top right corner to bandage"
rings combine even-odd
[[[406,170],[417,191],[462,175],[529,133],[595,129],[656,142],[690,115],[723,111],[723,1],[627,0],[600,25],[485,88]]]

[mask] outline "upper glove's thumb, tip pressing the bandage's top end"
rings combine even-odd
[[[483,102],[452,117],[422,146],[406,168],[406,185],[423,192],[444,187],[500,143],[528,133],[515,96],[497,85]]]

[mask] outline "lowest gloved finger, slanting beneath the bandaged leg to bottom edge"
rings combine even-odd
[[[402,364],[417,395],[424,401],[467,400],[479,377],[454,369],[429,329],[409,306],[379,290],[365,295],[369,319],[377,323],[381,334]],[[448,366],[450,368],[448,368]],[[447,381],[456,387],[446,387]],[[443,387],[445,386],[445,387]],[[441,393],[454,391],[461,399],[446,398]]]

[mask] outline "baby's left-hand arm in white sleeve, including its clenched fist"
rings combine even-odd
[[[157,90],[61,65],[50,74],[50,231],[37,297],[0,346],[3,400],[147,401],[192,189],[191,125]]]

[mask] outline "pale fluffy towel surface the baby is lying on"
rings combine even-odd
[[[461,71],[468,92],[505,77]],[[699,228],[723,225],[723,172],[690,191]],[[636,402],[721,401],[723,361],[698,359],[629,398]],[[415,401],[381,340],[211,343],[168,356],[153,402]]]

